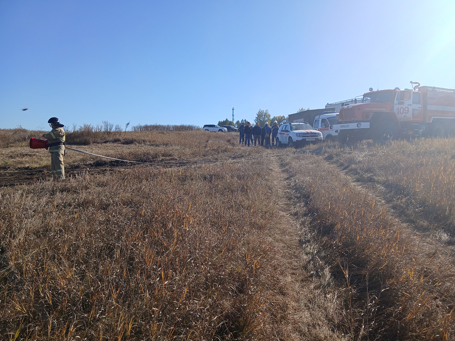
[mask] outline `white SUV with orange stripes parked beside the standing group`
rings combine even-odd
[[[314,130],[307,122],[284,123],[278,129],[277,146],[307,145],[316,144],[322,141],[322,133]]]

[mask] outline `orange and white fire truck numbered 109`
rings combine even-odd
[[[420,86],[365,93],[361,103],[340,109],[341,143],[406,136],[455,136],[455,89]]]

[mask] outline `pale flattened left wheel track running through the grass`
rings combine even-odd
[[[266,150],[267,156],[274,150]],[[277,202],[276,234],[272,243],[282,260],[279,278],[283,291],[279,301],[287,309],[282,321],[282,340],[349,340],[339,332],[344,321],[344,308],[339,288],[334,285],[327,265],[313,251],[309,220],[300,215],[301,207],[291,201],[292,179],[285,173],[277,157],[268,157],[273,178],[272,196]],[[318,274],[318,275],[315,275]]]

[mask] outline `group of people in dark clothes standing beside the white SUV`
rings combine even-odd
[[[261,128],[259,123],[256,123],[255,126],[251,126],[250,122],[245,122],[242,120],[242,124],[238,127],[240,133],[240,138],[238,144],[243,145],[264,145],[265,147],[270,147],[270,137],[272,137],[272,145],[275,142],[275,138],[278,133],[278,124],[277,121],[273,122],[272,127],[268,126],[268,122],[265,122],[264,126]]]

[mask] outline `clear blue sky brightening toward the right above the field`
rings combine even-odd
[[[453,0],[3,0],[0,127],[203,125],[455,88],[454,18]]]

